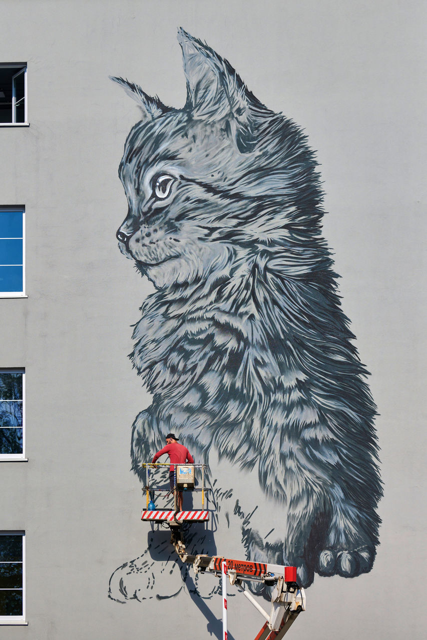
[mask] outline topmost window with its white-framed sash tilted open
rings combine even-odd
[[[0,125],[27,123],[27,65],[0,64]]]

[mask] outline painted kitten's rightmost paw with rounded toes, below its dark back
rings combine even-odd
[[[374,557],[374,547],[326,548],[317,554],[316,571],[319,575],[337,574],[344,578],[353,578],[360,573],[371,571]]]

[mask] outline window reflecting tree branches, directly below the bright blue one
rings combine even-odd
[[[0,369],[0,460],[24,458],[22,369]]]

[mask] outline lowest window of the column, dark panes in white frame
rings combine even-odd
[[[0,531],[0,624],[25,620],[25,533]]]

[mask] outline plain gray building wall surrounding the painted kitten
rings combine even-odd
[[[220,632],[220,596],[206,604],[212,614],[187,593],[108,599],[113,570],[147,542],[129,449],[149,396],[126,354],[151,291],[115,241],[126,215],[117,166],[139,115],[108,75],[182,106],[182,25],[318,150],[324,236],[380,412],[385,497],[373,571],[316,577],[289,633],[423,637],[423,4],[2,0],[0,15],[0,62],[28,61],[30,123],[0,127],[0,205],[26,207],[28,293],[0,300],[0,367],[26,369],[28,456],[0,462],[0,529],[26,531],[28,620],[0,636]],[[226,532],[216,540],[227,554]],[[255,637],[262,618],[235,597],[229,623],[239,640]]]

